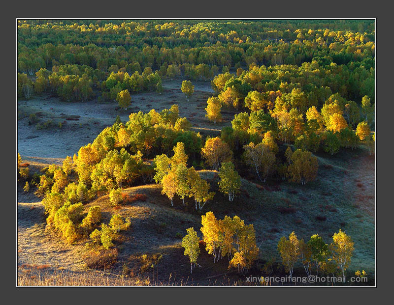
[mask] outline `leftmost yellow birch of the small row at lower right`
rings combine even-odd
[[[278,243],[278,250],[282,257],[283,266],[292,277],[294,265],[300,257],[299,241],[296,234],[294,232],[290,233],[289,239],[282,236]]]

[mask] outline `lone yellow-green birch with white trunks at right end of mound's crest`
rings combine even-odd
[[[241,177],[231,162],[222,163],[222,166],[219,168],[219,177],[219,190],[224,194],[228,194],[231,202],[235,194],[240,192]]]

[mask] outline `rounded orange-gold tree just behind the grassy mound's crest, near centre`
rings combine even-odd
[[[201,155],[213,170],[218,170],[222,162],[232,159],[229,145],[219,137],[207,139],[205,146],[201,148]]]

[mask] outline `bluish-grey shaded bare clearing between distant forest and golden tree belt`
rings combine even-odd
[[[78,149],[91,143],[119,115],[123,122],[131,112],[162,111],[178,104],[179,114],[187,117],[192,129],[203,134],[219,135],[223,126],[230,125],[233,114],[225,114],[222,123],[213,124],[205,117],[206,100],[213,95],[210,82],[193,82],[195,93],[186,101],[181,91],[183,79],[164,80],[162,94],[142,92],[131,95],[131,106],[120,109],[116,103],[100,102],[98,96],[87,102],[64,102],[51,95],[18,101],[18,152],[22,158],[43,158],[52,162],[72,156]],[[30,115],[36,121],[31,123]],[[37,129],[37,124],[51,121],[47,129]],[[62,124],[59,127],[59,123]]]

